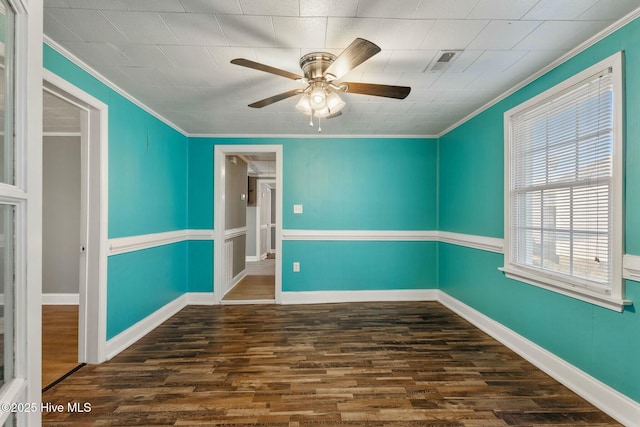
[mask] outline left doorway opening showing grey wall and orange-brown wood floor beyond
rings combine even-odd
[[[81,109],[44,90],[42,131],[42,387],[77,369]]]

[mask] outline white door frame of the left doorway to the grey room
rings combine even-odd
[[[78,361],[106,360],[108,106],[56,74],[43,87],[81,109],[81,213]]]

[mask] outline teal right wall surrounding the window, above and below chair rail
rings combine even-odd
[[[625,51],[626,252],[640,255],[640,22],[635,21],[439,140],[439,229],[503,237],[503,113]],[[439,244],[441,290],[640,401],[640,314],[618,313],[506,279],[503,256]],[[640,284],[627,281],[638,301]]]

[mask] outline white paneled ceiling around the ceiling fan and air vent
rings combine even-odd
[[[356,37],[382,51],[342,80],[411,86],[404,100],[345,94],[324,134],[437,135],[634,9],[640,0],[44,0],[44,32],[190,135],[317,132],[299,87],[232,65],[300,74],[305,53]],[[463,52],[425,72],[440,50]]]

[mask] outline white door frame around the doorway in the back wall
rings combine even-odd
[[[275,153],[276,155],[276,252],[282,253],[282,145],[216,145],[213,160],[213,301],[220,304],[224,283],[225,158],[227,155]],[[282,301],[282,256],[276,257],[276,304]]]

